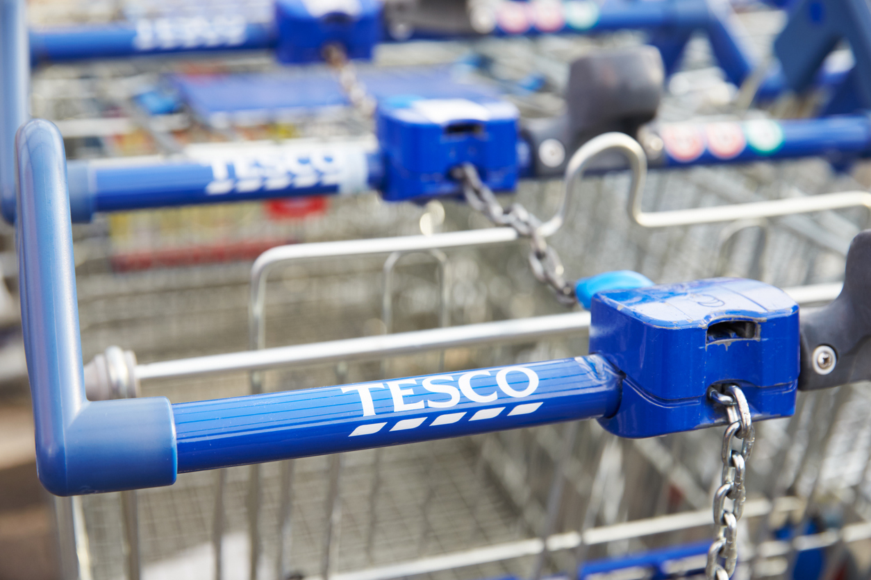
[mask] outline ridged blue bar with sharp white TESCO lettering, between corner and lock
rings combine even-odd
[[[179,472],[609,416],[620,377],[591,356],[179,403]]]

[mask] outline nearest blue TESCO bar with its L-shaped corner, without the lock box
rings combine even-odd
[[[177,472],[612,415],[602,357],[171,405],[84,393],[63,141],[18,130],[22,323],[44,486],[66,496],[173,483]],[[415,386],[416,385],[416,386]],[[177,451],[178,450],[178,451]]]

